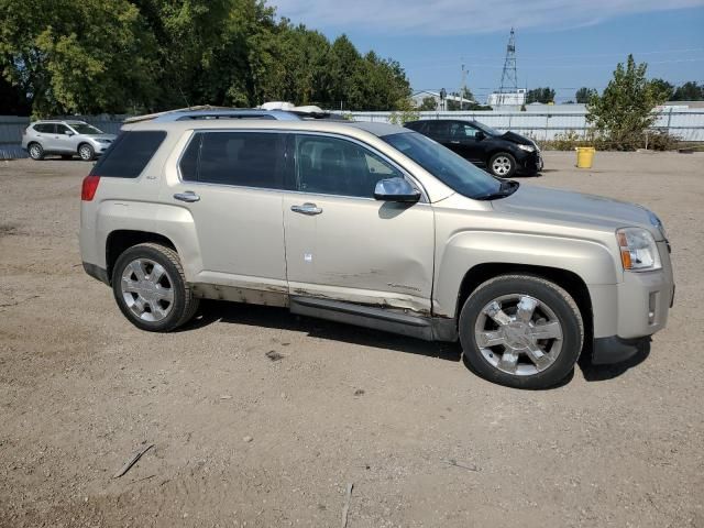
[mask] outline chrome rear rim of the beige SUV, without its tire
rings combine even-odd
[[[152,260],[130,262],[120,287],[128,308],[142,320],[161,321],[174,307],[173,282],[164,266]]]

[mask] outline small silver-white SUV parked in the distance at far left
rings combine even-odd
[[[90,162],[101,155],[116,138],[84,121],[36,121],[24,131],[22,148],[37,161],[46,154],[59,154],[66,160],[78,154],[81,160]]]

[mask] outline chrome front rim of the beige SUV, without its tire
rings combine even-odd
[[[491,365],[518,376],[544,371],[562,350],[554,311],[528,295],[503,295],[488,302],[476,318],[474,338]]]

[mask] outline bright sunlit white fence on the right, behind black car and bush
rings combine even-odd
[[[388,122],[393,112],[338,112],[355,121]],[[510,130],[538,140],[551,140],[557,134],[588,130],[584,111],[502,112],[497,110],[463,112],[419,112],[420,119],[472,119],[498,130]],[[703,109],[664,109],[658,111],[653,129],[664,130],[682,141],[704,141]]]

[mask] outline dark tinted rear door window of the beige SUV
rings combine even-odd
[[[197,132],[179,162],[185,182],[286,188],[286,135],[273,132]]]

